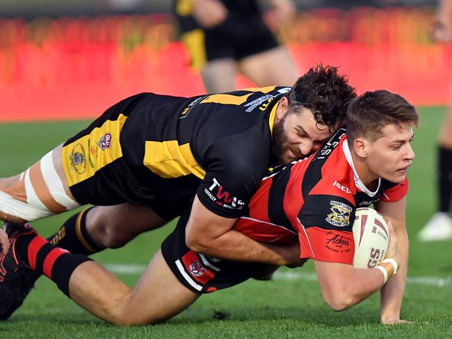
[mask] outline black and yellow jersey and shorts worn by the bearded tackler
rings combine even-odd
[[[164,217],[197,194],[213,213],[238,217],[271,163],[276,103],[289,90],[124,99],[65,142],[70,190],[81,204],[154,201]]]

